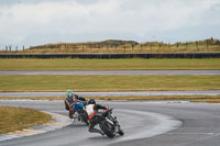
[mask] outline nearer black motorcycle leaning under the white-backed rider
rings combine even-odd
[[[112,114],[112,110],[113,109],[110,109],[103,113],[96,114],[96,116],[98,117],[97,123],[99,124],[99,127],[110,138],[113,138],[117,134],[124,134],[119,122],[117,121],[117,116]]]

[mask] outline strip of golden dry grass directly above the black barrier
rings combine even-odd
[[[121,47],[102,47],[102,48],[65,48],[65,49],[59,49],[59,48],[46,48],[46,49],[25,49],[25,50],[18,50],[18,52],[4,52],[1,50],[0,53],[15,53],[15,54],[25,54],[25,53],[31,53],[31,54],[36,54],[36,53],[108,53],[108,54],[113,54],[113,53],[158,53],[158,54],[166,54],[166,53],[219,53],[220,52],[220,46],[215,45],[215,46],[188,46],[186,47],[185,45],[179,46],[178,48],[173,45],[170,47],[168,46],[141,46],[138,45],[135,47],[131,46],[121,46]]]

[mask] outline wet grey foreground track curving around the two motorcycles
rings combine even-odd
[[[81,123],[34,136],[0,142],[1,146],[219,146],[220,104],[172,102],[100,102],[114,108],[125,135],[88,133]],[[0,101],[68,115],[63,101]]]

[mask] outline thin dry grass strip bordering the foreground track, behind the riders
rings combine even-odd
[[[220,96],[144,96],[144,97],[86,97],[96,100],[160,101],[187,100],[193,102],[220,103]],[[0,100],[64,100],[65,97],[0,97]]]

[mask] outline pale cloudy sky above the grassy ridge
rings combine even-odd
[[[220,38],[220,0],[0,0],[0,48]]]

